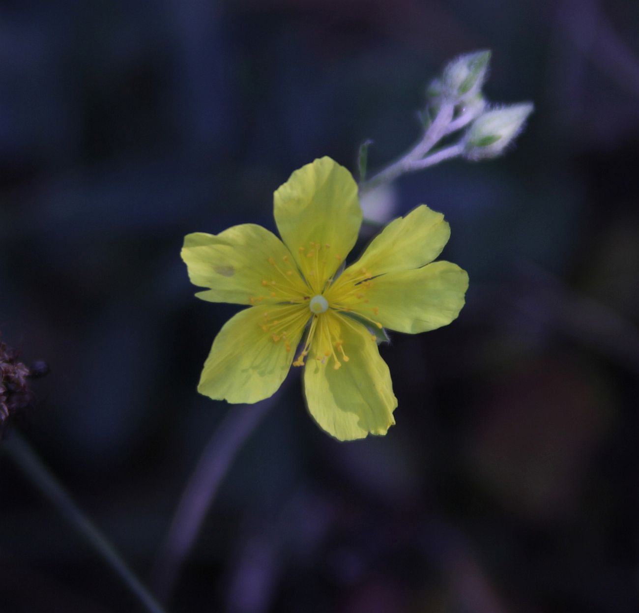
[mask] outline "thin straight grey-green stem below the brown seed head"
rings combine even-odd
[[[165,613],[164,609],[155,600],[153,595],[142,585],[142,582],[135,576],[128,564],[118,554],[116,549],[109,543],[105,536],[89,518],[82,513],[77,504],[73,502],[70,495],[60,485],[58,479],[44,465],[42,460],[29,443],[17,432],[13,431],[12,437],[3,443],[3,448],[12,456],[15,463],[31,480],[42,494],[49,499],[61,515],[93,545],[93,548],[100,554],[105,562],[111,566],[112,570],[121,578],[128,589],[137,596],[138,600],[150,613]]]

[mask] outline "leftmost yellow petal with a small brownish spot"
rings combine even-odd
[[[270,286],[263,284],[272,279],[289,291],[295,286],[300,293],[305,291],[304,281],[286,246],[272,232],[256,224],[233,226],[219,235],[189,234],[184,239],[181,256],[189,268],[191,283],[211,288],[196,296],[210,302],[282,302],[281,291],[272,297]],[[270,258],[276,264],[270,263]],[[292,270],[289,279],[277,272],[275,265],[284,273]]]

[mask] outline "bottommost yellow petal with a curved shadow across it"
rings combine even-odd
[[[327,316],[331,327],[339,330],[349,361],[335,370],[334,361],[322,364],[309,357],[304,369],[309,412],[338,440],[385,434],[395,423],[392,414],[397,407],[389,367],[364,326],[330,312]]]

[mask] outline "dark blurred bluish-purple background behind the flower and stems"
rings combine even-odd
[[[535,104],[504,157],[389,194],[445,213],[470,274],[456,322],[381,348],[397,425],[339,444],[293,373],[169,610],[639,610],[638,33],[634,0],[1,4],[0,330],[51,371],[20,430],[151,584],[234,410],[196,384],[237,307],[193,297],[183,236],[273,229],[293,170],[364,139],[387,164],[462,52]],[[140,610],[3,454],[0,610]]]

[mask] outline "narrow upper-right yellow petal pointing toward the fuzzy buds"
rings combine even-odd
[[[450,238],[442,213],[426,205],[397,217],[378,234],[353,268],[366,268],[371,277],[420,268],[435,260]]]

